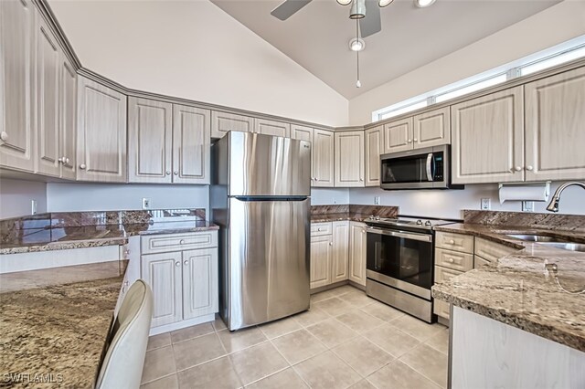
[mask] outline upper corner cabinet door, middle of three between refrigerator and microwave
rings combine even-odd
[[[335,132],[335,186],[364,186],[364,131]]]

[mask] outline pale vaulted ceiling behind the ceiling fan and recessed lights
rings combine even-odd
[[[347,99],[560,2],[437,0],[428,8],[417,8],[412,0],[395,0],[380,10],[382,31],[365,39],[366,49],[360,53],[362,87],[357,89],[356,53],[348,47],[356,36],[356,22],[349,19],[348,6],[313,0],[281,21],[271,16],[271,10],[282,0],[211,1]]]

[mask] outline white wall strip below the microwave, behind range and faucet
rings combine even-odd
[[[550,185],[551,195],[559,183]],[[349,190],[349,203],[373,205],[379,196],[381,205],[398,205],[400,215],[462,218],[463,209],[480,209],[481,199],[489,198],[494,211],[522,211],[519,201],[500,205],[497,184],[466,185],[464,190],[413,190],[384,191],[380,188],[356,188]],[[535,212],[546,211],[548,203],[535,202]],[[585,215],[585,191],[571,186],[561,195],[558,206],[561,214]]]

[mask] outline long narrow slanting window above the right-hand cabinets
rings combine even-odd
[[[375,110],[372,112],[372,121],[382,121],[411,110],[428,107],[437,102],[452,100],[476,90],[493,87],[508,79],[526,76],[578,58],[585,58],[585,36],[570,39],[560,45],[549,47],[504,66],[431,90],[412,99],[400,101],[381,110]]]

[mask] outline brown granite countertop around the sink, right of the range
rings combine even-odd
[[[437,231],[484,237],[518,251],[432,287],[432,296],[585,352],[585,253],[521,241],[539,234],[585,242],[583,233],[522,226],[448,225]],[[557,264],[558,278],[545,271]]]

